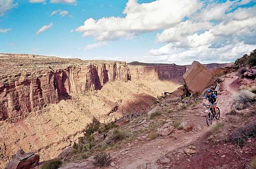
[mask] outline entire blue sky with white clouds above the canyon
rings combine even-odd
[[[255,7],[254,0],[0,0],[0,53],[226,63],[256,48]]]

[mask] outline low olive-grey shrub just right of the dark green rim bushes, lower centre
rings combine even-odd
[[[109,143],[121,141],[125,138],[129,138],[130,136],[131,136],[131,132],[129,132],[128,130],[113,128],[107,134],[106,143],[109,144]]]

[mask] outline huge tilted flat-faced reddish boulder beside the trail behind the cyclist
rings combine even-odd
[[[205,88],[211,86],[216,81],[212,71],[198,61],[194,61],[189,69],[187,69],[183,75],[183,80],[189,92],[199,92],[200,94]]]

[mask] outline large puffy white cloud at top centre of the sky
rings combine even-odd
[[[137,1],[128,0],[123,10],[125,18],[89,18],[76,31],[83,32],[83,36],[94,36],[97,41],[134,36],[175,26],[202,5],[198,0],[156,0],[143,4]]]

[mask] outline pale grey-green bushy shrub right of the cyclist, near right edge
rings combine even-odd
[[[241,109],[248,106],[248,104],[252,101],[254,101],[254,98],[251,98],[246,90],[241,90],[233,96],[233,105],[236,107],[239,106]]]

